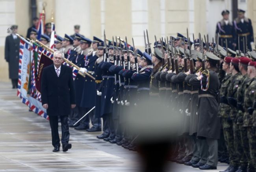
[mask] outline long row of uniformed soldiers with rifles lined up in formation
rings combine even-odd
[[[36,34],[32,30],[30,37]],[[41,41],[50,42],[45,35]],[[98,139],[137,150],[136,140],[142,136],[132,132],[127,120],[150,99],[180,118],[171,161],[216,169],[219,141],[219,147],[228,150],[226,172],[255,171],[256,52],[224,49],[200,36],[192,42],[180,33],[165,42],[156,40],[152,50],[148,42],[143,53],[121,38],[107,45],[106,40],[78,33],[57,36],[56,50],[80,72],[95,77],[76,76],[77,107],[70,113],[69,126],[101,131],[102,118]]]

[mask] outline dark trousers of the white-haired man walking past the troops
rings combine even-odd
[[[69,143],[69,125],[68,116],[60,116],[61,119],[61,143],[62,146]],[[49,116],[50,126],[52,130],[52,146],[60,146],[59,144],[59,124],[58,116]]]

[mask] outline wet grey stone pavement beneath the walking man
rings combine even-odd
[[[52,152],[48,121],[22,104],[17,90],[0,82],[0,172],[136,172],[137,154],[121,146],[96,139],[97,133],[70,128],[72,149]],[[60,134],[61,135],[61,134]],[[192,167],[169,163],[175,172],[199,172]],[[217,172],[227,167],[219,164]]]

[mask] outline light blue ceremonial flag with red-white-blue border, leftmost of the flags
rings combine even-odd
[[[22,99],[30,110],[48,119],[46,109],[43,108],[42,103],[28,94],[30,85],[31,70],[33,64],[33,48],[32,44],[26,40],[20,40],[19,51],[19,81],[17,96]]]

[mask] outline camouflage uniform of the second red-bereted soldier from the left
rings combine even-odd
[[[228,87],[228,104],[231,107],[230,110],[230,118],[232,119],[232,128],[230,130],[233,130],[233,139],[230,138],[231,145],[234,146],[234,152],[232,153],[232,159],[235,159],[235,163],[233,164],[235,166],[241,166],[241,167],[247,167],[248,161],[245,156],[245,153],[243,152],[243,147],[241,144],[241,136],[239,132],[239,125],[237,125],[237,88],[239,84],[241,83],[241,79],[243,78],[243,75],[241,73],[237,73],[236,75],[232,76],[232,82],[230,83]],[[232,137],[232,136],[231,136]]]

